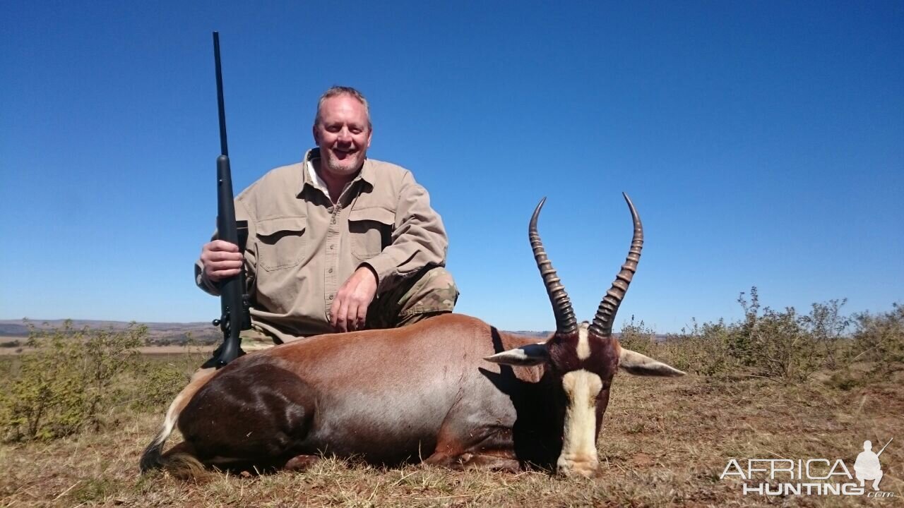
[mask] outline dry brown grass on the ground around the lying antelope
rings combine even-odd
[[[590,481],[326,459],[306,473],[212,473],[185,483],[138,475],[138,456],[163,410],[123,410],[109,415],[102,433],[0,447],[0,505],[894,506],[904,496],[902,377],[843,391],[819,381],[619,375],[599,439],[600,475]],[[894,499],[743,496],[737,481],[719,479],[731,457],[841,457],[852,465],[864,439],[890,437],[898,440],[882,455],[881,486]]]

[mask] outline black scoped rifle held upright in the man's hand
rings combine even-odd
[[[226,144],[226,109],[223,106],[223,78],[220,67],[220,33],[213,33],[213,59],[216,61],[217,73],[217,106],[220,109],[220,156],[217,157],[217,231],[220,240],[228,241],[239,246],[239,251],[245,249],[245,240],[248,236],[248,221],[235,220],[235,203],[232,201],[232,174],[229,165],[229,147]],[[240,230],[244,233],[244,239],[240,240]],[[220,319],[214,319],[213,325],[219,326],[223,334],[223,343],[217,351],[213,352],[213,358],[205,362],[202,367],[220,368],[235,360],[242,354],[241,330],[251,327],[248,295],[245,294],[245,267],[239,275],[225,278],[220,285]]]

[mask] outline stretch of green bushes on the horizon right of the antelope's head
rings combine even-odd
[[[849,390],[862,377],[866,364],[872,374],[904,369],[904,306],[888,313],[843,315],[846,300],[815,303],[806,315],[794,307],[782,311],[761,307],[757,287],[738,302],[738,322],[698,325],[670,334],[662,343],[653,330],[634,316],[622,329],[620,342],[628,349],[667,362],[685,372],[705,376],[752,375],[775,381],[798,382],[819,370],[828,371],[829,384]],[[853,333],[850,333],[851,327]]]

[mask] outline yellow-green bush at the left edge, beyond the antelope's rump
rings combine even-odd
[[[137,364],[137,347],[147,328],[77,330],[67,321],[47,330],[30,326],[18,372],[0,395],[5,440],[52,439],[86,426],[99,428],[100,415],[125,390],[117,381]]]

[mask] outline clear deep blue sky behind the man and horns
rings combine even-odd
[[[187,5],[186,5],[187,4]],[[550,329],[540,230],[589,319],[644,221],[617,320],[904,301],[904,3],[23,2],[0,17],[0,318],[205,321],[212,30],[234,185],[313,145],[361,89],[369,155],[450,237],[459,312]]]

